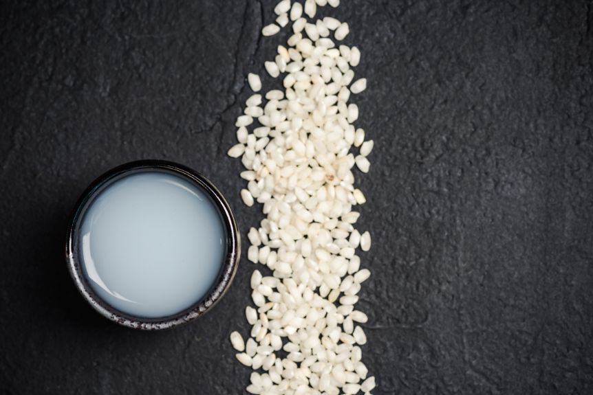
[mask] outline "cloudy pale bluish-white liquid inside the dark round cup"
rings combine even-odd
[[[199,302],[226,255],[222,216],[208,194],[158,170],[131,174],[100,192],[79,241],[93,291],[136,317],[166,317]]]

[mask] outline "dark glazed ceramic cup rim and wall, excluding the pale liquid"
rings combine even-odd
[[[209,196],[211,196],[213,202],[219,209],[222,216],[224,225],[226,227],[226,257],[224,258],[222,269],[219,274],[219,278],[213,284],[211,291],[209,291],[202,300],[193,304],[193,306],[187,308],[181,313],[171,315],[169,317],[162,318],[142,318],[128,315],[118,311],[116,308],[110,306],[104,302],[88,284],[85,275],[83,274],[83,268],[79,262],[78,254],[78,227],[80,222],[83,220],[84,214],[89,207],[89,204],[98,194],[104,190],[107,185],[111,182],[120,179],[129,174],[151,171],[151,170],[162,170],[165,172],[171,172],[177,176],[183,177],[191,183],[195,183],[202,188]],[[158,330],[173,328],[186,324],[201,315],[204,315],[209,311],[218,300],[226,293],[230,283],[235,277],[237,272],[237,265],[239,263],[239,252],[240,252],[240,240],[239,232],[237,231],[237,223],[233,213],[230,211],[230,207],[222,194],[215,188],[215,186],[202,176],[202,174],[182,166],[177,163],[169,161],[159,160],[146,160],[146,161],[134,161],[125,163],[114,169],[109,170],[105,174],[101,175],[89,185],[87,190],[80,196],[76,208],[72,214],[72,218],[69,221],[67,242],[66,242],[66,261],[68,269],[78,291],[82,293],[83,297],[91,306],[94,307],[101,315],[111,319],[120,325],[127,326],[129,328],[143,329],[143,330]]]

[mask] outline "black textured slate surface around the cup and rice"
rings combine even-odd
[[[203,319],[138,332],[87,306],[63,241],[78,194],[135,159],[206,174],[244,236],[259,221],[226,151],[244,76],[287,36],[260,37],[274,4],[0,4],[1,392],[244,392],[228,335],[247,333],[253,264]],[[356,173],[374,393],[592,394],[593,3],[344,0],[326,14],[349,23],[369,81],[354,100],[375,141]]]

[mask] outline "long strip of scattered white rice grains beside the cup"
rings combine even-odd
[[[354,80],[358,48],[337,44],[349,25],[315,19],[318,6],[339,3],[276,5],[276,23],[261,33],[272,36],[292,23],[294,34],[264,65],[284,90],[257,93],[261,80],[248,75],[256,93],[237,118],[239,143],[228,150],[246,168],[241,199],[257,201],[265,215],[248,232],[248,260],[263,265],[251,276],[251,332],[246,342],[239,332],[230,335],[237,359],[254,370],[250,394],[370,394],[375,387],[360,348],[367,315],[355,308],[371,274],[360,269],[356,251],[368,251],[371,237],[354,228],[359,213],[352,211],[366,201],[352,168],[369,171],[373,141],[354,126],[358,106],[348,104],[367,80]]]

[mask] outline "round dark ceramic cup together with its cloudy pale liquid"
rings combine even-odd
[[[208,179],[177,163],[136,161],[80,197],[66,260],[96,311],[155,330],[212,308],[233,280],[239,250],[233,213]]]

